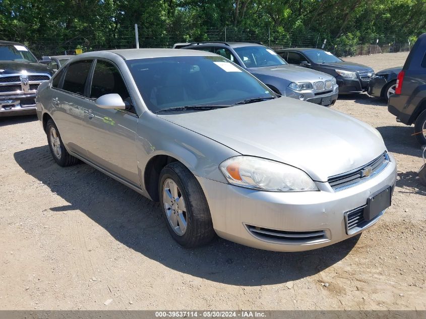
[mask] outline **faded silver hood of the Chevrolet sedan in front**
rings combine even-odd
[[[317,181],[367,164],[386,150],[380,133],[366,123],[286,97],[157,116],[242,155],[298,167]]]

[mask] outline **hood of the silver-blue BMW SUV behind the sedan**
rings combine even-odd
[[[320,80],[331,80],[332,76],[319,71],[308,68],[297,67],[292,65],[282,65],[274,67],[250,68],[248,69],[253,75],[267,75],[289,80],[291,82],[316,82]]]

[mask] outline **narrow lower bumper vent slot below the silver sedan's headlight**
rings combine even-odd
[[[257,227],[252,225],[246,225],[247,229],[256,237],[264,240],[275,240],[275,241],[296,241],[296,242],[312,242],[318,240],[328,240],[326,232],[324,230],[313,230],[313,231],[285,231],[277,229],[269,229],[263,227]]]

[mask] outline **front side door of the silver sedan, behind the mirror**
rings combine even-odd
[[[140,187],[136,163],[136,125],[138,115],[128,110],[103,109],[96,99],[117,93],[133,105],[132,98],[118,68],[108,60],[97,59],[88,85],[88,100],[84,110],[84,147],[87,159],[110,173]]]

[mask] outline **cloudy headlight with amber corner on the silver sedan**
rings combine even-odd
[[[235,156],[219,165],[233,185],[270,192],[318,190],[307,173],[286,164],[251,156]]]

